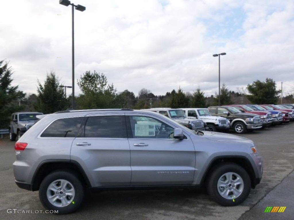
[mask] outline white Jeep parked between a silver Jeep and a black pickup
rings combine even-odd
[[[206,123],[206,130],[226,132],[230,129],[230,121],[224,117],[211,116],[208,109],[183,109],[187,119],[202,119]]]

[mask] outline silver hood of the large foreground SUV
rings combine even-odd
[[[206,139],[210,141],[218,141],[218,142],[242,142],[242,143],[253,143],[248,138],[243,138],[233,134],[226,134],[226,133],[218,133],[212,131],[203,131],[204,136]]]

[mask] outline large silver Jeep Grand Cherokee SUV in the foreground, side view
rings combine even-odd
[[[39,190],[48,210],[75,211],[90,189],[204,186],[223,206],[260,182],[253,141],[193,131],[151,111],[100,109],[49,114],[15,144],[16,184]]]

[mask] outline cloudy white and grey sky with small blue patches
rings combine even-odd
[[[75,82],[104,73],[118,92],[164,95],[198,87],[210,96],[220,82],[237,91],[273,79],[294,93],[293,0],[75,0]],[[54,71],[71,86],[71,6],[59,0],[1,1],[0,60],[13,85],[36,93]],[[71,89],[67,89],[71,93]],[[75,94],[80,89],[75,84]]]

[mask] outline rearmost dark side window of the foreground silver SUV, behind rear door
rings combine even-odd
[[[42,138],[75,138],[83,117],[58,119],[41,134]]]

